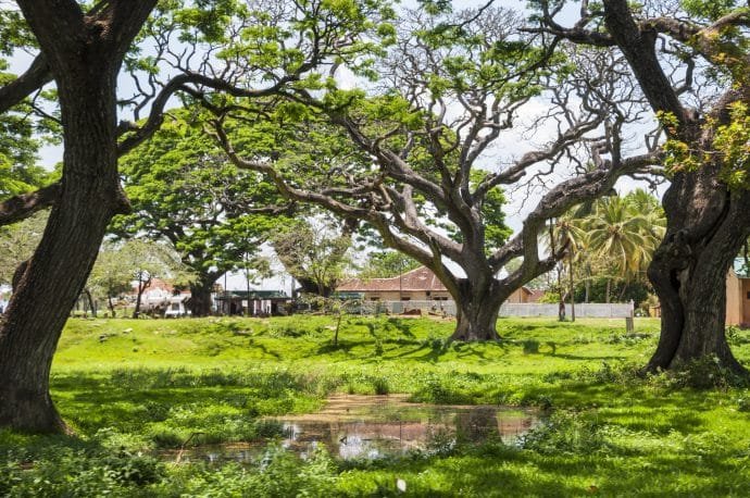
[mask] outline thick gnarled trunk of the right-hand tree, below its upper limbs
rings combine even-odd
[[[667,233],[648,272],[661,302],[662,332],[647,370],[715,357],[745,373],[724,327],[726,276],[748,237],[750,194],[730,194],[701,171],[674,179],[664,209]]]

